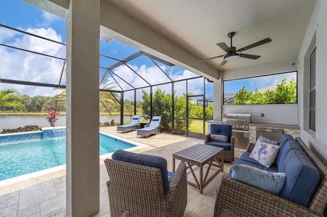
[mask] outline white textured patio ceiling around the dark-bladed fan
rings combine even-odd
[[[134,19],[198,57],[224,55],[216,45],[233,46],[271,38],[272,42],[244,51],[258,60],[240,58],[219,67],[223,58],[207,61],[229,70],[297,58],[315,6],[315,0],[106,0]]]

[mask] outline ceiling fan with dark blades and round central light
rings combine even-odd
[[[271,42],[271,39],[270,38],[266,38],[266,39],[263,39],[261,41],[255,42],[253,44],[250,44],[248,46],[245,46],[245,47],[243,47],[241,49],[236,50],[236,47],[233,47],[233,45],[232,45],[232,37],[235,36],[235,32],[228,33],[227,35],[228,35],[228,38],[230,38],[230,47],[228,47],[227,44],[225,44],[224,42],[217,43],[217,45],[221,49],[223,49],[223,50],[225,50],[227,52],[226,55],[221,55],[221,56],[217,56],[217,57],[212,57],[212,58],[200,60],[199,62],[203,62],[203,61],[207,61],[207,60],[212,60],[212,59],[219,58],[219,57],[224,57],[224,61],[219,65],[219,66],[224,66],[227,63],[227,61],[237,60],[240,57],[247,58],[247,59],[252,59],[252,60],[256,60],[256,59],[260,58],[261,56],[248,55],[248,54],[239,53],[239,52],[242,52],[244,50],[248,50],[248,49],[251,49],[253,47],[256,47],[256,46],[259,46],[259,45],[262,45],[262,44],[266,44],[268,42]]]

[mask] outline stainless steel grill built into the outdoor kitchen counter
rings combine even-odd
[[[230,124],[232,129],[249,130],[251,114],[224,114],[223,124]]]

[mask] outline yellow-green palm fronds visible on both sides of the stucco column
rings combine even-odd
[[[108,80],[109,81],[109,80]],[[110,87],[113,83],[108,83],[103,89],[105,90],[111,90],[114,87]],[[56,88],[60,89],[60,88]],[[114,110],[115,107],[118,107],[120,105],[118,99],[119,95],[116,93],[110,93],[110,92],[100,92],[99,93],[100,98],[100,105],[106,110],[106,112],[111,115],[111,111]],[[49,110],[51,107],[57,107],[57,106],[65,106],[66,105],[66,90],[63,89],[63,91],[60,94],[55,95],[52,97],[48,102],[45,102],[42,106],[42,112]]]

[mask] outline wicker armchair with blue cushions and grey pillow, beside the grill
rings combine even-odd
[[[221,132],[221,130],[226,130],[226,133]],[[234,136],[231,135],[231,126],[227,124],[211,124],[210,125],[210,132],[204,136],[204,144],[205,145],[213,145],[220,148],[224,148],[224,161],[233,162],[234,161],[234,147],[235,147],[235,139]],[[226,142],[227,145],[224,145],[221,142],[212,142],[210,140],[211,134],[222,134],[228,137],[228,141]],[[228,146],[228,148],[226,148]],[[229,149],[230,150],[226,150]],[[218,159],[221,160],[220,156]]]

